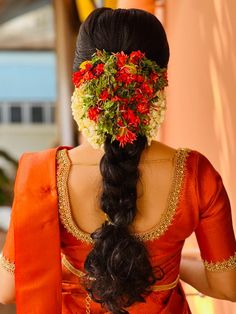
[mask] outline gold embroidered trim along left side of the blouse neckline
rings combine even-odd
[[[66,230],[83,242],[93,243],[89,233],[82,232],[76,226],[71,210],[67,188],[68,176],[70,171],[70,161],[68,160],[66,149],[59,150],[57,153],[57,190],[60,219]]]

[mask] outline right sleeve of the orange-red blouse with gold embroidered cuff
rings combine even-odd
[[[195,233],[204,265],[209,271],[236,268],[236,242],[229,198],[220,175],[201,154],[196,187],[200,214]]]

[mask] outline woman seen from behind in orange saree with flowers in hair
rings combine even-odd
[[[220,175],[200,153],[153,141],[168,60],[164,29],[147,12],[102,8],[83,23],[72,111],[88,142],[22,156],[2,303],[16,299],[24,314],[190,313],[180,278],[236,300]],[[193,231],[203,262],[181,259]]]

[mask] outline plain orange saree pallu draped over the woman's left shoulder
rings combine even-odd
[[[58,149],[25,153],[19,162],[12,208],[17,314],[61,313]]]

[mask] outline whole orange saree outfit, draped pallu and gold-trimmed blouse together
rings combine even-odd
[[[17,313],[106,313],[81,285],[93,242],[73,220],[67,190],[69,147],[24,154],[1,262],[15,271]],[[135,236],[164,277],[131,314],[191,313],[179,281],[184,240],[195,231],[205,267],[236,266],[236,242],[222,180],[200,153],[178,149],[168,206],[157,226]]]

